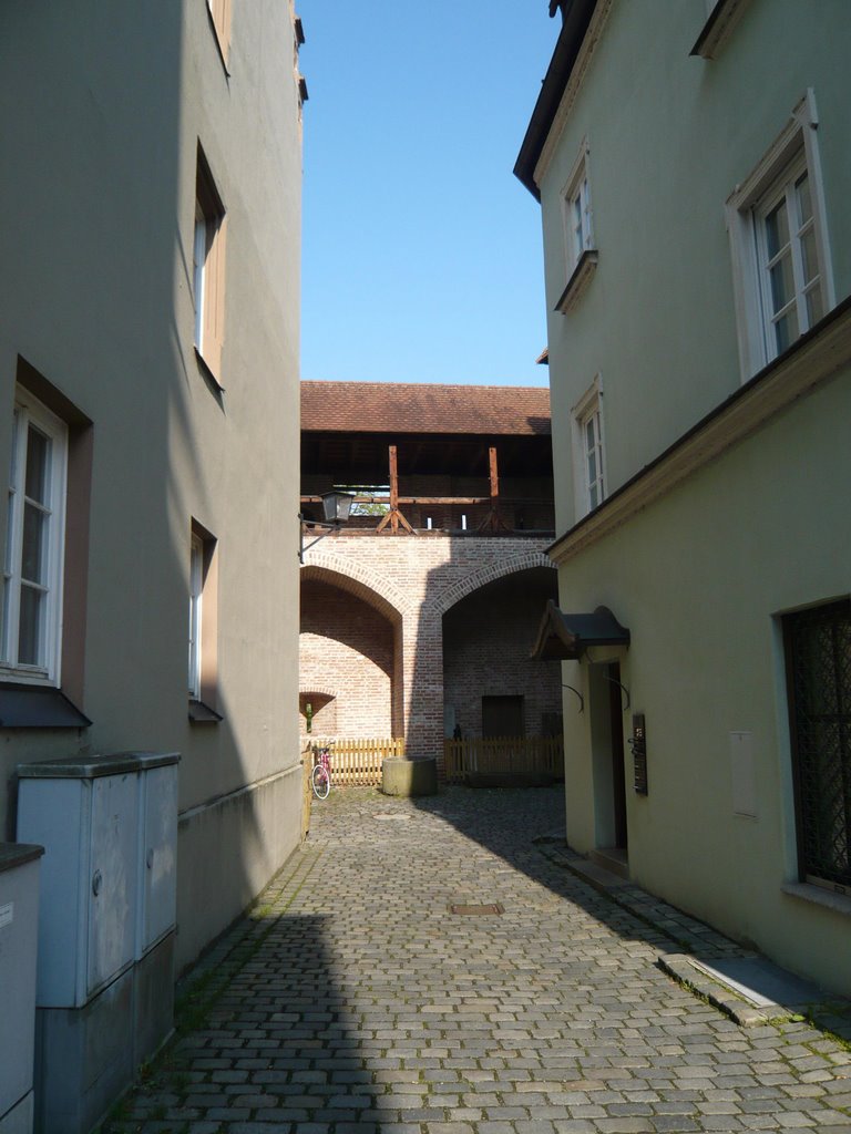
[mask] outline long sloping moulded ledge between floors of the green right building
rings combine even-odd
[[[566,562],[850,364],[851,296],[568,528],[547,555],[557,566]]]

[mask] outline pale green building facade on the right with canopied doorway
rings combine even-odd
[[[546,249],[568,841],[846,992],[851,24],[557,7],[515,172]],[[598,607],[629,643],[565,632]]]

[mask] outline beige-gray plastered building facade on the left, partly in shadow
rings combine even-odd
[[[3,837],[20,762],[178,752],[178,968],[300,838],[301,27],[230,9],[0,12]]]

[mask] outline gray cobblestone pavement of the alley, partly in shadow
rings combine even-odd
[[[562,806],[557,788],[314,804],[304,848],[196,978],[197,1029],[104,1131],[851,1131],[842,1041],[740,1027],[665,975],[683,938],[730,945],[536,844]]]

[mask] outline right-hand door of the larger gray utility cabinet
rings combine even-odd
[[[141,957],[175,924],[177,903],[177,764],[142,776]]]

